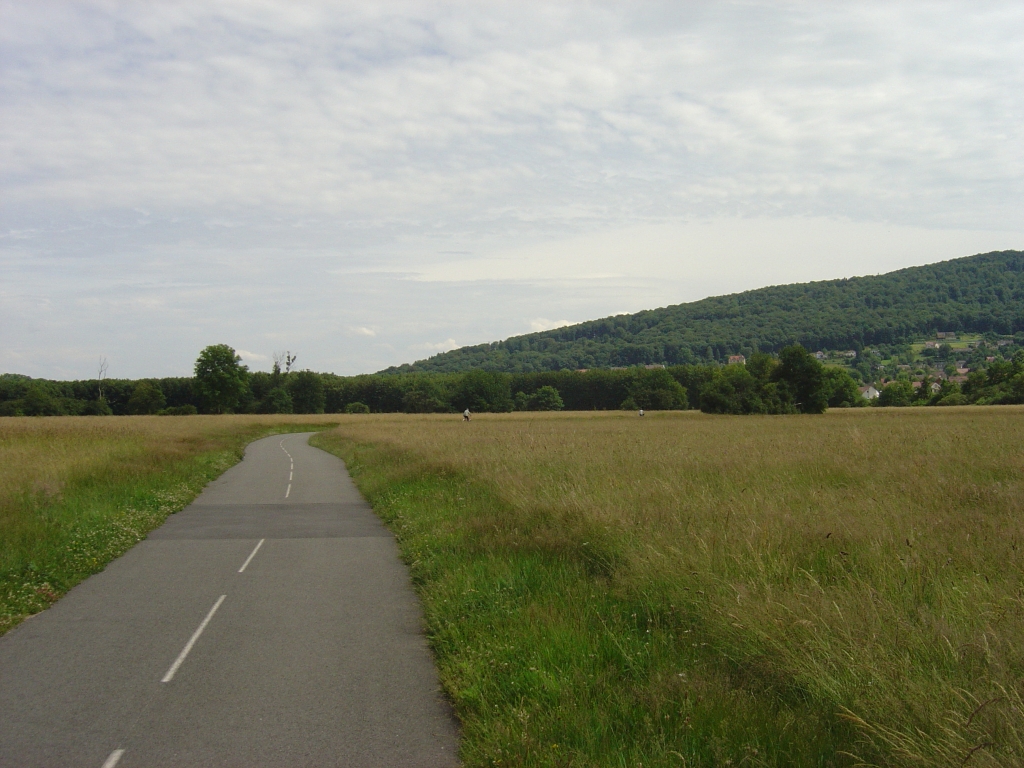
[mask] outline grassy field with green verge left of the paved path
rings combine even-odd
[[[253,439],[337,417],[0,419],[0,634],[101,570]]]

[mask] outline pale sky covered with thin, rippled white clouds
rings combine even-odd
[[[1024,249],[1020,2],[0,0],[0,373],[350,375]]]

